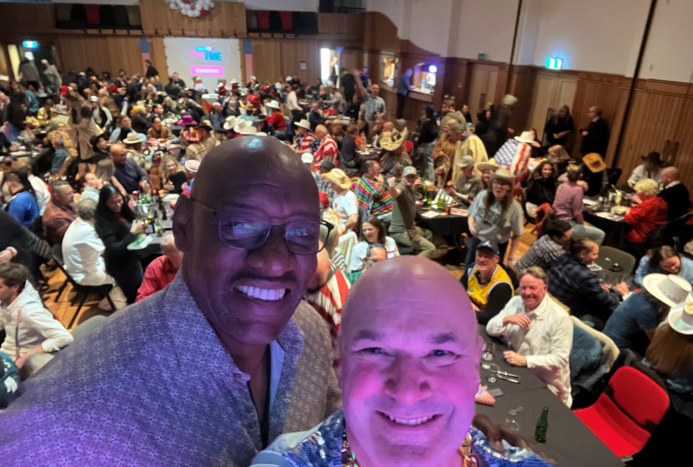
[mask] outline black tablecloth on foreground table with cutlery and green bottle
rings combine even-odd
[[[500,388],[504,395],[495,398],[493,406],[476,404],[477,414],[488,415],[491,420],[500,424],[504,424],[506,418],[514,419],[520,424],[518,433],[527,441],[534,442],[536,421],[542,409],[548,407],[549,429],[543,450],[559,466],[622,467],[624,465],[568,407],[565,407],[559,398],[554,396],[532,370],[505,363],[502,355],[507,348],[502,342],[489,337],[484,325],[479,325],[479,335],[486,341],[496,342],[495,355],[490,363],[497,364],[502,371],[520,375],[521,382],[516,384],[498,380],[491,384],[485,380],[490,372],[480,368],[482,384],[488,384],[489,389]],[[508,414],[509,410],[518,407],[523,407],[524,411],[513,416]]]

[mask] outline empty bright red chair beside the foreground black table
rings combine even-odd
[[[669,396],[632,366],[613,374],[597,402],[574,414],[620,458],[640,451],[669,409]]]

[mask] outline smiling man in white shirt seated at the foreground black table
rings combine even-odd
[[[511,365],[527,366],[548,384],[549,389],[572,405],[570,396],[570,349],[572,321],[548,291],[548,277],[533,266],[520,278],[520,295],[489,321],[489,336],[501,336],[509,348],[503,353]]]

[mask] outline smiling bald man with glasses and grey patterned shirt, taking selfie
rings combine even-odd
[[[279,140],[244,137],[195,180],[173,216],[180,273],[28,380],[0,414],[3,465],[245,467],[339,407],[326,324],[301,301],[313,176]]]

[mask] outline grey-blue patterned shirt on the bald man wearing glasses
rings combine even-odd
[[[269,441],[341,405],[324,321],[301,302],[278,339]],[[249,377],[181,275],[116,312],[24,385],[0,414],[3,466],[247,466],[260,450]]]

